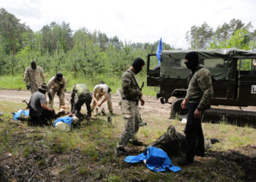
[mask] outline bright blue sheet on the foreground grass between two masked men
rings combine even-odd
[[[173,165],[165,151],[154,146],[150,146],[138,156],[128,156],[124,159],[125,162],[146,162],[148,169],[163,172],[171,170],[174,173],[181,170],[180,167]]]

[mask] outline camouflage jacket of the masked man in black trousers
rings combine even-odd
[[[203,65],[198,65],[195,74],[189,81],[186,100],[190,103],[199,103],[197,109],[203,111],[210,106],[214,90],[211,84],[211,73]]]

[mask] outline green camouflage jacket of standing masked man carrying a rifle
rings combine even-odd
[[[141,92],[138,89],[137,84],[130,73],[132,73],[132,75],[136,79],[135,74],[132,72],[132,68],[124,71],[124,74],[121,76],[123,97],[126,99],[138,100],[141,97]]]

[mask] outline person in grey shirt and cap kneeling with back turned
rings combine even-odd
[[[31,111],[31,108],[29,109],[29,114],[31,116],[31,119],[35,119],[33,117],[33,112],[36,112],[36,116],[39,116],[40,123],[37,124],[48,124],[48,121],[53,118],[55,115],[55,111],[53,108],[50,108],[47,106],[46,103],[46,97],[45,93],[48,90],[48,87],[46,84],[42,84],[37,92],[34,92],[31,95],[31,98],[29,100],[29,104],[32,108],[34,108],[34,111]],[[34,115],[35,116],[35,115]]]

